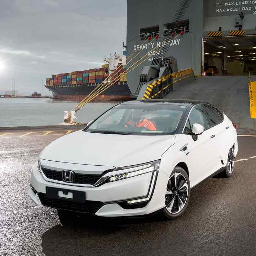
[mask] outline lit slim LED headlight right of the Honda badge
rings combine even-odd
[[[156,171],[159,169],[159,165],[160,165],[160,160],[151,162],[149,164],[135,166],[135,167],[126,167],[125,169],[123,169],[125,173],[112,176],[109,178],[109,181],[123,180],[125,178],[130,178],[130,177],[138,176],[141,174],[145,174],[147,172]]]

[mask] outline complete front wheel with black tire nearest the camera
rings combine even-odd
[[[165,208],[163,209],[165,217],[168,219],[180,217],[187,208],[189,198],[190,181],[188,175],[183,168],[176,166],[167,182]]]

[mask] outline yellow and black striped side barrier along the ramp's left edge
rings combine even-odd
[[[151,82],[150,84],[148,84],[142,99],[143,100],[152,99],[156,95],[160,94],[160,92],[167,89],[172,84],[174,84],[176,82],[179,82],[179,81],[181,81],[185,78],[189,78],[190,76],[193,76],[193,75],[194,75],[194,72],[193,72],[192,69],[185,69],[185,70],[181,70],[181,71],[172,73],[172,74],[167,75],[167,76],[163,76],[163,77],[157,79],[156,81]],[[158,92],[156,92],[155,94],[152,95],[152,90],[153,90],[154,87],[158,86],[159,84],[166,81],[167,79],[170,79],[171,77],[172,77],[172,82],[170,84],[166,85],[161,90],[159,90]]]

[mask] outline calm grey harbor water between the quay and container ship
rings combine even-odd
[[[63,111],[77,104],[50,98],[0,98],[0,127],[56,125],[63,122]],[[115,104],[88,103],[76,112],[77,122],[90,122]]]

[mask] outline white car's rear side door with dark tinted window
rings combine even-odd
[[[213,157],[214,157],[214,171],[219,170],[223,163],[223,157],[228,154],[228,145],[226,140],[228,137],[226,136],[226,127],[228,124],[223,122],[223,116],[220,116],[216,108],[209,104],[204,104],[206,116],[208,118],[211,134],[210,144],[213,147]]]

